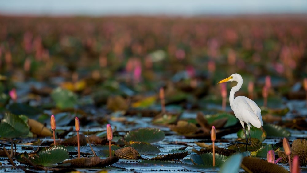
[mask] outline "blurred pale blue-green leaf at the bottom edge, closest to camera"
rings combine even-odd
[[[243,159],[242,154],[235,154],[230,156],[220,168],[220,173],[237,173],[240,169]]]

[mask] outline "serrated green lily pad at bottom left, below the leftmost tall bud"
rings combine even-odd
[[[63,146],[53,146],[45,150],[41,150],[37,155],[30,157],[30,160],[35,165],[51,166],[68,159],[68,151]]]

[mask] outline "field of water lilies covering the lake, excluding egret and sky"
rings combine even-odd
[[[0,169],[305,171],[305,17],[0,16]]]

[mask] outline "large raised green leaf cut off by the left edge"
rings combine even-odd
[[[30,137],[28,117],[6,113],[0,123],[0,136],[3,138]]]

